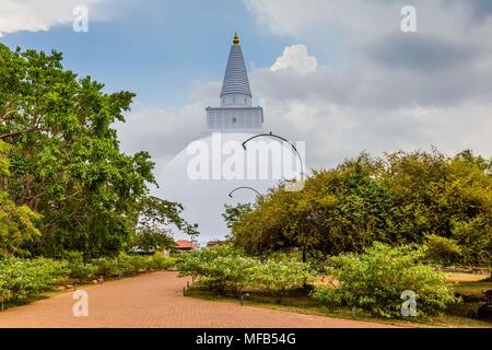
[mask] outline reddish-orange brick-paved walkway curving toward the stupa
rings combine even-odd
[[[155,272],[83,288],[89,293],[89,316],[74,317],[73,292],[0,313],[3,327],[220,327],[220,328],[361,328],[378,324],[335,319],[241,306],[183,296],[188,279],[176,272]]]

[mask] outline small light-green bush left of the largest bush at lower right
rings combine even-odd
[[[280,303],[289,290],[298,289],[312,282],[313,273],[306,264],[269,260],[253,270],[251,281],[265,288]]]

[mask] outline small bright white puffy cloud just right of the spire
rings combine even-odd
[[[305,45],[285,47],[283,55],[271,66],[271,71],[292,68],[301,74],[313,72],[318,68],[316,57],[309,56]]]

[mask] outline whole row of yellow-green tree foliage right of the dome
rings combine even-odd
[[[324,260],[360,253],[373,242],[456,241],[458,262],[492,258],[492,162],[471,152],[363,153],[333,170],[315,171],[301,191],[284,185],[232,222],[233,243],[247,254],[301,249]]]

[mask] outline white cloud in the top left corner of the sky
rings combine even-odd
[[[113,0],[109,0],[113,1]],[[87,7],[90,21],[102,19],[99,5],[108,0],[2,0],[0,2],[0,35],[21,31],[49,31],[55,25],[75,19],[73,9]]]

